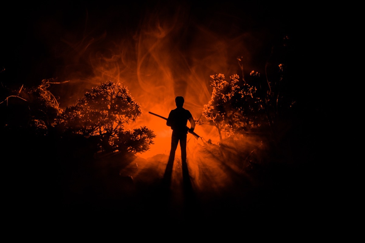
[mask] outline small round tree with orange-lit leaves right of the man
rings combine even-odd
[[[258,112],[262,110],[261,99],[255,96],[256,88],[234,74],[226,81],[223,74],[210,76],[212,97],[204,105],[203,116],[216,126],[222,142],[222,131],[228,136],[259,125]]]

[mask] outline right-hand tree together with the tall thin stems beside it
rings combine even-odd
[[[297,83],[294,82],[291,66],[292,46],[289,37],[273,47],[272,55],[265,65],[265,76],[251,71],[244,78],[242,57],[238,63],[242,79],[234,74],[227,81],[223,74],[211,75],[213,87],[211,100],[204,105],[202,115],[207,123],[218,129],[220,142],[222,132],[226,137],[249,131],[265,131],[278,138],[285,123],[296,119],[298,109]],[[289,122],[288,122],[289,121]],[[199,125],[202,120],[196,119]]]

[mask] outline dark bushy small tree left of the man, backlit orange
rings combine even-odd
[[[146,126],[124,129],[124,124],[135,122],[141,114],[141,107],[128,88],[109,81],[85,93],[76,105],[67,107],[56,124],[64,133],[100,137],[105,152],[122,150],[135,154],[147,151],[155,137]]]

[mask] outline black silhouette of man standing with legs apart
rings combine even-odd
[[[167,118],[166,125],[172,129],[171,136],[171,150],[169,161],[173,161],[175,158],[175,151],[177,144],[180,141],[181,160],[186,163],[186,143],[188,130],[191,132],[195,129],[195,121],[189,110],[183,108],[184,97],[177,96],[175,98],[176,109],[171,110],[169,117]],[[190,129],[187,127],[188,121],[190,122]]]

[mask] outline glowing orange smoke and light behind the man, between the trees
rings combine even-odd
[[[70,80],[70,87],[64,90],[66,95],[59,95],[68,95],[68,99],[61,99],[60,106],[73,105],[85,91],[102,82],[123,83],[143,112],[137,122],[126,128],[146,125],[157,135],[150,150],[138,156],[168,154],[172,130],[163,119],[148,111],[167,117],[170,110],[176,108],[174,98],[183,96],[184,108],[190,110],[193,117],[204,119],[201,117],[203,106],[212,93],[210,75],[236,74],[236,58],[242,54],[246,57],[242,59],[245,71],[252,69],[248,64],[250,53],[244,44],[250,39],[249,34],[234,28],[217,34],[199,24],[188,24],[185,18],[179,11],[166,19],[150,13],[141,21],[137,33],[113,39],[108,39],[107,33],[98,38],[85,36],[77,43],[65,40],[73,50],[64,54],[67,62],[78,64],[82,58],[88,59],[86,62],[92,72],[68,67],[58,70],[57,77]],[[210,125],[197,126],[195,132],[202,138],[194,141],[188,134],[188,148],[203,145],[208,140],[213,144],[219,142],[217,130]],[[177,149],[176,156],[179,155]]]

